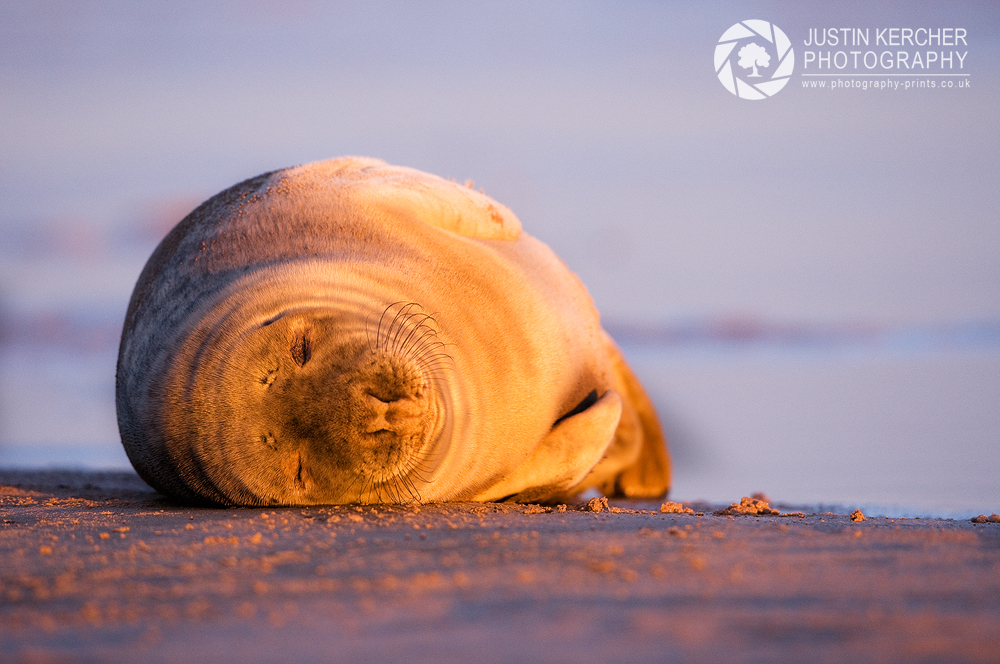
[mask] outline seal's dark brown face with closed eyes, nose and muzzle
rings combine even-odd
[[[273,379],[261,443],[294,461],[303,491],[351,502],[415,498],[407,476],[429,433],[427,378],[412,359],[363,340],[329,343],[328,321],[313,323],[292,335],[285,370],[261,376]]]

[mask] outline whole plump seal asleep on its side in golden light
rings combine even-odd
[[[659,497],[656,413],[583,284],[506,207],[364,158],[209,199],[118,354],[139,475],[223,505]]]

